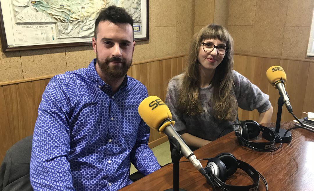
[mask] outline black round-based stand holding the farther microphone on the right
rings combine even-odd
[[[278,98],[276,129],[275,130],[273,128],[270,128],[270,129],[276,132],[281,137],[283,143],[289,143],[292,139],[292,134],[289,131],[286,135],[284,135],[284,133],[286,132],[286,129],[280,128],[281,113],[282,113],[283,105],[284,105],[284,99],[280,96]],[[278,137],[276,137],[275,142],[280,143],[280,140]]]

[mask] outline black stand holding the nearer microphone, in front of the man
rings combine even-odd
[[[173,136],[168,136],[168,139],[170,142],[171,160],[173,162],[173,188],[164,191],[187,191],[179,188],[179,161],[182,157],[180,144]]]

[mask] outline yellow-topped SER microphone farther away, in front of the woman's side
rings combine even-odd
[[[290,104],[289,96],[284,88],[285,82],[287,81],[286,73],[280,66],[272,66],[266,71],[266,76],[271,85],[279,90],[279,95],[283,98],[284,104],[288,111],[292,112],[292,106]]]

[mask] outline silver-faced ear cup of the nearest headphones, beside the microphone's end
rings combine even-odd
[[[207,162],[206,168],[209,174],[216,175],[222,182],[227,180],[227,168],[221,160],[217,158],[210,158]]]

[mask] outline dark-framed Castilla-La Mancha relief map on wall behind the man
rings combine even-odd
[[[3,52],[91,45],[101,8],[123,7],[134,20],[134,40],[149,39],[148,0],[0,0]]]

